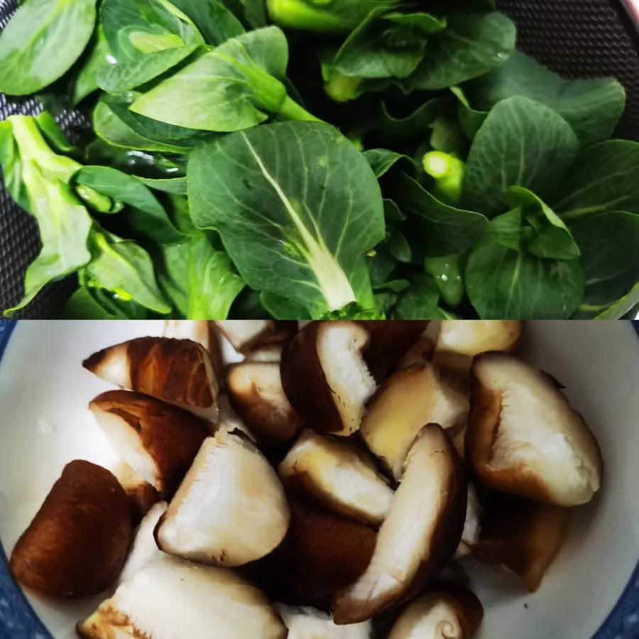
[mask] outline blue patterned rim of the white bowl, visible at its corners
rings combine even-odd
[[[0,360],[16,327],[16,320],[0,320]],[[639,321],[631,320],[639,337]],[[639,638],[639,561],[615,606],[591,639]],[[0,639],[53,639],[11,577],[0,543]]]

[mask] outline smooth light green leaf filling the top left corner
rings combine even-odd
[[[28,95],[80,58],[95,26],[96,0],[28,0],[0,35],[0,92]]]

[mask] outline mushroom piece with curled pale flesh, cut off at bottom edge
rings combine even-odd
[[[410,603],[388,639],[470,639],[482,618],[484,608],[473,592],[442,581]]]

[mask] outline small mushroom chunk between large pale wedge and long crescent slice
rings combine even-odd
[[[278,466],[290,491],[315,498],[349,519],[379,525],[395,492],[359,448],[335,442],[313,430],[302,432]]]

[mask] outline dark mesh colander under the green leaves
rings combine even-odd
[[[518,46],[565,77],[616,77],[626,87],[628,102],[616,135],[639,141],[639,0],[501,0],[502,11],[518,27]],[[15,9],[0,0],[0,28]],[[13,101],[0,94],[0,120],[11,114],[36,114],[33,99]],[[87,126],[69,112],[62,128],[73,140]],[[23,293],[23,275],[40,250],[33,219],[0,190],[0,311]],[[75,286],[72,278],[45,288],[22,317],[57,317]]]

